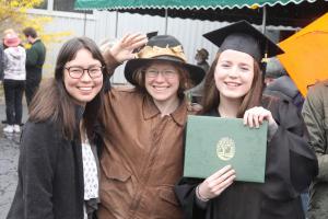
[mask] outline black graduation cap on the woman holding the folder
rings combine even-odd
[[[222,28],[203,34],[220,47],[219,51],[233,49],[250,55],[258,62],[284,51],[247,21],[239,21]]]

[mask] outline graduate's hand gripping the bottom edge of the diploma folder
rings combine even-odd
[[[226,165],[198,185],[199,199],[211,199],[219,196],[235,180],[236,174],[231,165]]]

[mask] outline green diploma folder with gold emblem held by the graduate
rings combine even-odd
[[[268,123],[244,126],[242,118],[188,116],[185,177],[206,178],[231,164],[236,181],[265,182]]]

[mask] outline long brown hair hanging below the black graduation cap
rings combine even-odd
[[[220,57],[220,53],[216,54],[214,61],[212,62],[210,70],[206,77],[203,99],[202,99],[202,111],[201,113],[209,113],[213,108],[216,110],[220,104],[220,92],[216,89],[214,72]],[[241,118],[244,116],[245,111],[254,106],[259,106],[261,104],[262,95],[262,74],[259,68],[259,64],[254,60],[254,79],[251,82],[250,90],[244,96],[241,107],[237,113],[237,117]]]

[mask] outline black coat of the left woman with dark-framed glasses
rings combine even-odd
[[[19,184],[7,219],[83,219],[83,186],[80,138],[66,140],[50,122],[27,122]]]

